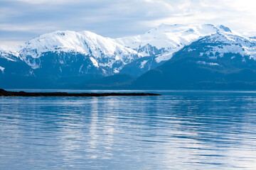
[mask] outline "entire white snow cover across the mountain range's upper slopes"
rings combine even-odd
[[[1,46],[0,55],[8,60],[14,60],[13,56],[16,56],[36,69],[40,62],[36,64],[33,60],[40,58],[44,52],[74,52],[90,58],[95,67],[110,67],[118,72],[125,64],[139,57],[152,56],[157,63],[169,60],[174,52],[202,38],[210,38],[210,42],[229,44],[223,46],[223,50],[219,48],[215,51],[246,53],[256,58],[256,38],[247,38],[232,32],[226,26],[213,24],[161,24],[142,35],[117,39],[104,38],[87,30],[57,30],[21,45]],[[144,67],[145,64],[146,61],[141,66]]]

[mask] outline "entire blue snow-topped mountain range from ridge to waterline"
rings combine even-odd
[[[116,39],[55,31],[0,46],[0,87],[256,89],[256,39],[212,24]]]

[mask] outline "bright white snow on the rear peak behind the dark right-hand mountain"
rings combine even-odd
[[[231,33],[231,30],[222,25],[214,26],[212,24],[161,24],[142,35],[117,38],[116,41],[126,47],[131,47],[141,52],[144,56],[152,55],[149,48],[155,47],[156,49],[154,51],[161,50],[164,52],[163,55],[156,58],[156,62],[161,62],[169,60],[174,52],[181,50],[185,45],[189,45],[191,42],[206,35],[212,35],[218,32]]]

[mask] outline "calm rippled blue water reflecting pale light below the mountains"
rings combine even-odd
[[[0,97],[0,169],[256,169],[256,94]]]

